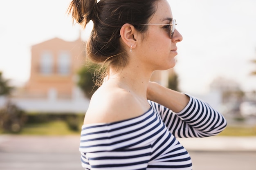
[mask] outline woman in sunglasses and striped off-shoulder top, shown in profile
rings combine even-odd
[[[104,64],[81,132],[81,161],[90,170],[191,170],[176,137],[217,135],[226,120],[190,95],[150,82],[175,66],[177,42],[166,0],[73,0],[73,20],[94,27],[87,56]]]

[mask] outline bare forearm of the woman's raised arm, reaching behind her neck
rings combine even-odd
[[[161,86],[156,82],[149,82],[147,88],[147,99],[157,102],[175,113],[179,113],[189,103],[189,97],[184,93],[173,91]]]

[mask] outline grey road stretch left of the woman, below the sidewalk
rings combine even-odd
[[[79,154],[0,152],[0,170],[83,170]]]

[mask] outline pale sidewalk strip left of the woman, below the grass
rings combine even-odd
[[[79,135],[0,135],[0,152],[79,153]]]

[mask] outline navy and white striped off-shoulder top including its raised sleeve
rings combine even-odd
[[[86,170],[191,170],[189,153],[176,137],[208,137],[227,122],[208,104],[190,97],[173,113],[155,102],[132,119],[82,126],[81,161]]]

